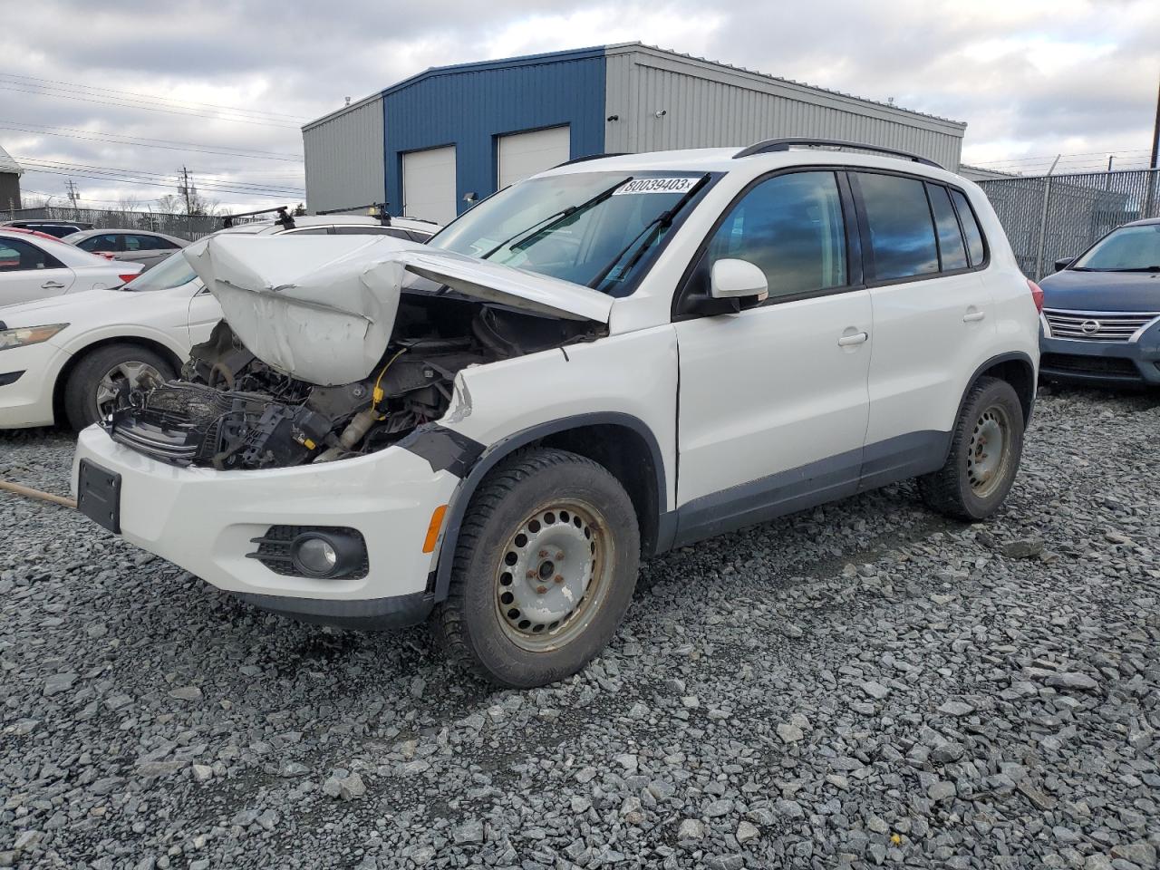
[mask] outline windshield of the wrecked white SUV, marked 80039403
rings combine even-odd
[[[704,177],[593,172],[532,179],[485,200],[429,245],[618,296]]]

